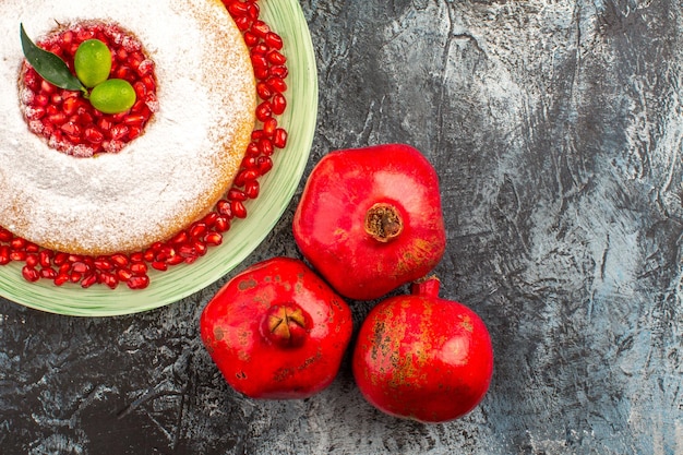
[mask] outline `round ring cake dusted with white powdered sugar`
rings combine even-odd
[[[154,116],[118,153],[79,157],[29,131],[21,109],[20,23],[118,24],[156,71]],[[219,0],[3,1],[0,225],[41,247],[99,255],[141,250],[201,218],[239,170],[254,128],[249,50]]]

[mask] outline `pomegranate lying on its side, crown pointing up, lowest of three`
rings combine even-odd
[[[493,350],[481,319],[466,306],[440,299],[439,279],[414,284],[372,309],[360,328],[354,376],[378,409],[421,422],[444,422],[484,397]]]

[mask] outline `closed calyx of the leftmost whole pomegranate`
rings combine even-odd
[[[309,319],[296,303],[271,307],[263,319],[263,334],[281,347],[298,347],[308,338]]]

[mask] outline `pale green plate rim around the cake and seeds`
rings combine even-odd
[[[261,17],[285,41],[289,75],[287,110],[279,123],[288,131],[288,144],[273,156],[274,168],[261,178],[261,193],[247,203],[248,217],[236,220],[219,247],[191,265],[167,272],[149,272],[146,289],[125,285],[111,290],[95,285],[55,286],[49,280],[27,283],[23,264],[0,266],[0,295],[16,303],[52,313],[107,316],[147,311],[176,302],[225,276],[268,235],[289,204],[309,158],[317,115],[315,56],[305,19],[297,0],[262,0]]]

